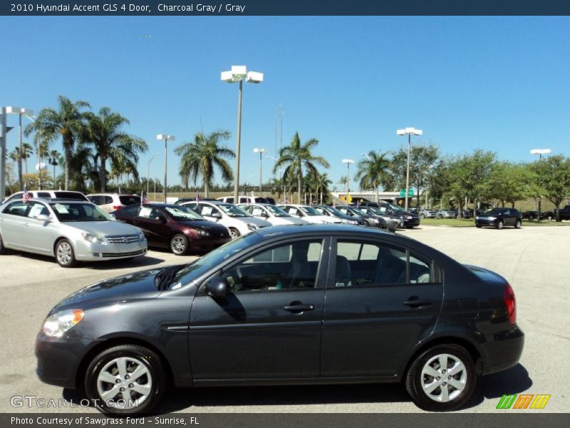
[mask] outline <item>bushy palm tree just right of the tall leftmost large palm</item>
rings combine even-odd
[[[95,149],[95,168],[99,169],[101,192],[107,191],[105,165],[108,159],[111,163],[136,165],[138,152],[147,150],[147,143],[142,138],[130,136],[120,130],[128,123],[127,118],[119,113],[113,113],[108,107],[100,108],[98,115],[88,113],[86,141],[93,144]],[[99,166],[97,161],[99,161]],[[137,170],[137,168],[131,169]]]

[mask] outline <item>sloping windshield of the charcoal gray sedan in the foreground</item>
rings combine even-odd
[[[182,285],[187,285],[199,275],[202,275],[214,266],[224,263],[224,260],[227,260],[232,255],[254,245],[259,242],[259,240],[261,240],[261,237],[257,235],[257,233],[249,233],[249,235],[231,240],[221,247],[210,251],[207,255],[202,256],[195,262],[190,263],[190,265],[187,265],[182,270],[178,271],[172,280],[171,288],[175,289],[182,287]]]

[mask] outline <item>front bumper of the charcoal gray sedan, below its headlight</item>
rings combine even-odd
[[[48,337],[39,332],[36,337],[36,374],[41,382],[75,389],[83,379],[77,379],[83,356],[95,345],[92,339]]]

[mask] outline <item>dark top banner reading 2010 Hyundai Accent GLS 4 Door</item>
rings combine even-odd
[[[4,0],[5,16],[569,15],[568,0]]]

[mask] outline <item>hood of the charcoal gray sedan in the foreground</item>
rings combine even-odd
[[[109,305],[123,300],[156,297],[160,291],[155,285],[155,276],[163,268],[129,273],[88,285],[88,287],[82,288],[61,300],[53,307],[50,315],[59,310],[85,309],[86,307],[95,307],[101,304]]]

